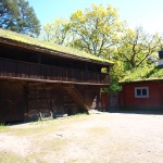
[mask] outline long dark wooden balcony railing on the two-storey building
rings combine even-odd
[[[109,84],[109,74],[0,59],[0,77]]]

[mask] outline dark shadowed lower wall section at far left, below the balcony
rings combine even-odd
[[[23,121],[25,110],[23,85],[0,82],[0,122]]]

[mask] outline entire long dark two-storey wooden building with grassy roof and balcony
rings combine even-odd
[[[0,122],[75,114],[100,108],[113,63],[0,29]],[[101,73],[106,67],[108,73]]]

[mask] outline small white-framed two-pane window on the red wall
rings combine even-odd
[[[148,87],[136,87],[135,88],[135,98],[149,98],[149,88]]]

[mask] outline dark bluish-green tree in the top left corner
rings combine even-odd
[[[25,0],[0,0],[0,27],[32,36],[40,33],[35,11]]]

